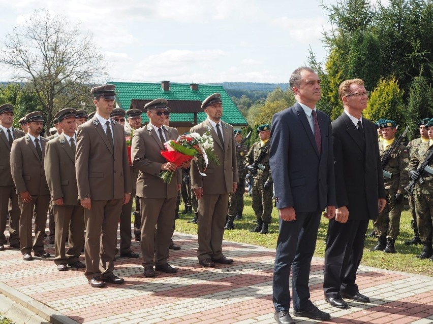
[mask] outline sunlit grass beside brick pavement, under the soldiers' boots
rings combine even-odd
[[[278,222],[277,211],[272,211],[272,223],[269,225],[269,234],[263,235],[259,233],[250,233],[250,229],[254,227],[252,221],[255,220],[253,208],[251,207],[251,197],[244,196],[244,210],[243,219],[235,221],[235,230],[225,231],[224,239],[240,243],[248,243],[259,245],[267,248],[275,248],[276,240],[278,237]],[[183,204],[180,206],[180,211],[183,211]],[[197,234],[197,225],[187,223],[191,220],[193,215],[180,215],[180,219],[176,221],[176,231],[188,234]],[[364,256],[362,258],[362,265],[404,271],[410,273],[417,273],[427,276],[433,276],[433,263],[427,260],[415,259],[416,255],[421,253],[421,245],[408,246],[404,241],[411,239],[413,230],[410,227],[411,215],[408,210],[401,214],[400,220],[400,235],[395,242],[397,254],[386,254],[380,251],[370,252],[368,249],[374,246],[377,242],[376,238],[366,238]],[[322,218],[317,238],[316,257],[324,257],[325,253],[325,239],[328,221]],[[370,222],[367,233],[371,232],[373,226]]]

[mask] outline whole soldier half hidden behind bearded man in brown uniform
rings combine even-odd
[[[245,192],[245,166],[244,159],[248,154],[248,148],[242,144],[240,129],[234,131],[236,141],[236,163],[239,174],[239,183],[236,191],[230,195],[227,223],[224,229],[234,230],[233,220],[240,220],[243,211],[243,193]]]

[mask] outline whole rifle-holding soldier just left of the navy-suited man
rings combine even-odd
[[[268,225],[271,221],[273,181],[269,169],[269,153],[260,161],[264,169],[255,168],[252,164],[260,153],[270,145],[270,126],[268,124],[257,127],[260,140],[255,142],[245,156],[245,167],[253,175],[252,198],[253,210],[256,214],[257,225],[251,232],[269,233]]]

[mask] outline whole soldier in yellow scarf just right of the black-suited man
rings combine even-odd
[[[383,140],[379,142],[379,152],[383,160],[384,155],[391,149],[396,140],[395,132],[397,128],[392,120],[383,120],[380,127]],[[370,249],[371,251],[396,253],[394,244],[400,232],[400,217],[404,207],[403,197],[405,187],[408,185],[408,171],[406,171],[408,163],[408,149],[403,144],[400,144],[394,149],[383,169],[383,181],[388,203],[379,213],[376,222],[374,222],[378,243]]]

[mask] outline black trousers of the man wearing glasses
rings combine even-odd
[[[339,292],[350,295],[358,292],[356,271],[364,251],[367,227],[368,220],[348,220],[346,223],[329,220],[323,281],[325,296],[335,298]]]

